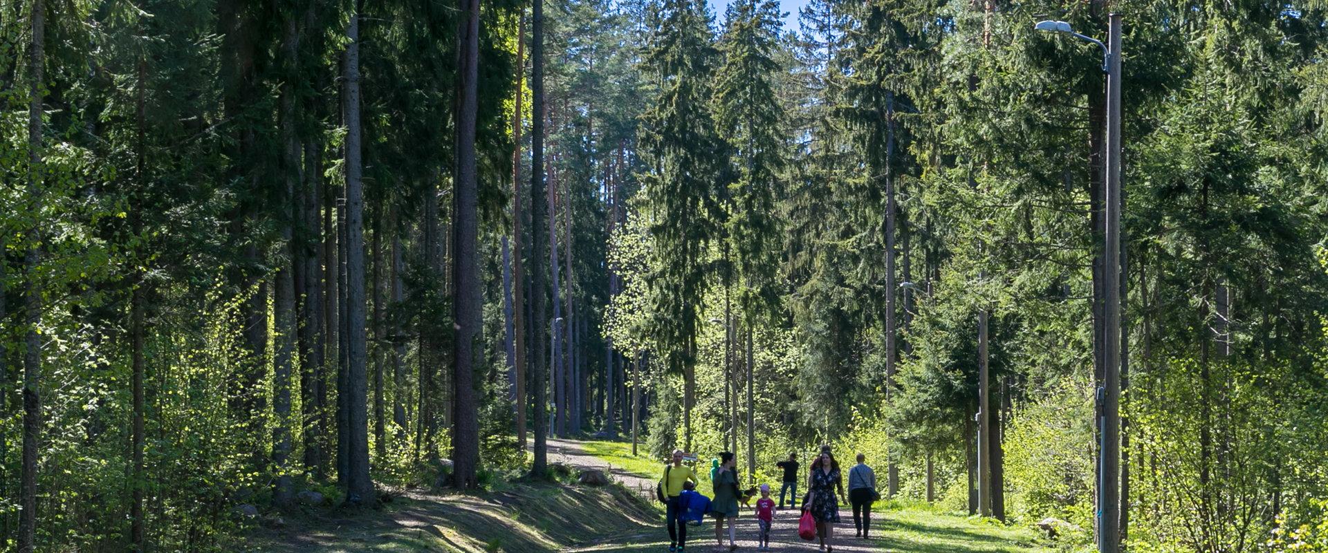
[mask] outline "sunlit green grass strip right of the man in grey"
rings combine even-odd
[[[890,553],[1050,552],[1038,545],[1031,528],[946,513],[926,504],[887,504],[872,515],[876,542]]]

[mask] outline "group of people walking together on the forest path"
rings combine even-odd
[[[714,541],[718,548],[724,548],[724,533],[728,528],[728,549],[737,549],[737,517],[738,504],[748,504],[754,492],[760,491],[761,497],[752,507],[758,525],[757,550],[768,550],[770,546],[770,532],[774,525],[777,512],[785,509],[788,492],[789,508],[801,507],[798,516],[810,513],[815,521],[815,537],[821,550],[834,552],[834,525],[839,524],[839,501],[847,497],[853,505],[853,524],[857,537],[867,538],[871,525],[871,505],[878,499],[876,475],[866,464],[866,456],[858,454],[858,463],[849,469],[849,493],[845,493],[843,476],[839,471],[839,461],[835,460],[830,446],[822,446],[821,452],[811,460],[811,467],[803,479],[798,468],[797,454],[789,454],[788,460],[776,463],[784,472],[784,481],[780,488],[778,507],[770,497],[769,484],[758,488],[742,491],[737,475],[737,460],[732,452],[721,452],[718,459],[712,461],[710,483],[713,497],[705,497],[696,492],[696,473],[691,467],[683,464],[684,459],[695,459],[681,450],[673,451],[672,463],[664,465],[660,477],[657,495],[665,504],[665,525],[669,536],[669,552],[683,553],[687,548],[688,524],[700,524],[709,515],[714,519]],[[806,493],[798,497],[798,484],[806,483]],[[794,519],[795,520],[795,519]],[[794,522],[797,525],[797,522]]]

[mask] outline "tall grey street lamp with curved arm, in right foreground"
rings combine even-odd
[[[1104,306],[1102,341],[1104,378],[1098,390],[1102,414],[1102,447],[1098,458],[1101,476],[1098,479],[1098,550],[1117,553],[1120,550],[1120,483],[1121,483],[1121,15],[1108,16],[1108,44],[1097,38],[1076,33],[1065,21],[1038,21],[1037,31],[1069,34],[1097,44],[1102,48],[1102,70],[1106,73],[1106,179],[1102,183],[1102,200],[1106,211],[1106,232],[1104,240],[1102,288],[1106,300]]]

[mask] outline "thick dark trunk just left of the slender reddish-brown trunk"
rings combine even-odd
[[[458,489],[479,487],[479,422],[475,403],[475,367],[479,359],[482,300],[479,297],[479,187],[475,180],[475,118],[478,110],[477,85],[479,80],[479,0],[461,3],[463,17],[458,24],[459,41],[457,73],[457,170],[453,180],[453,430],[452,430],[452,484]]]

